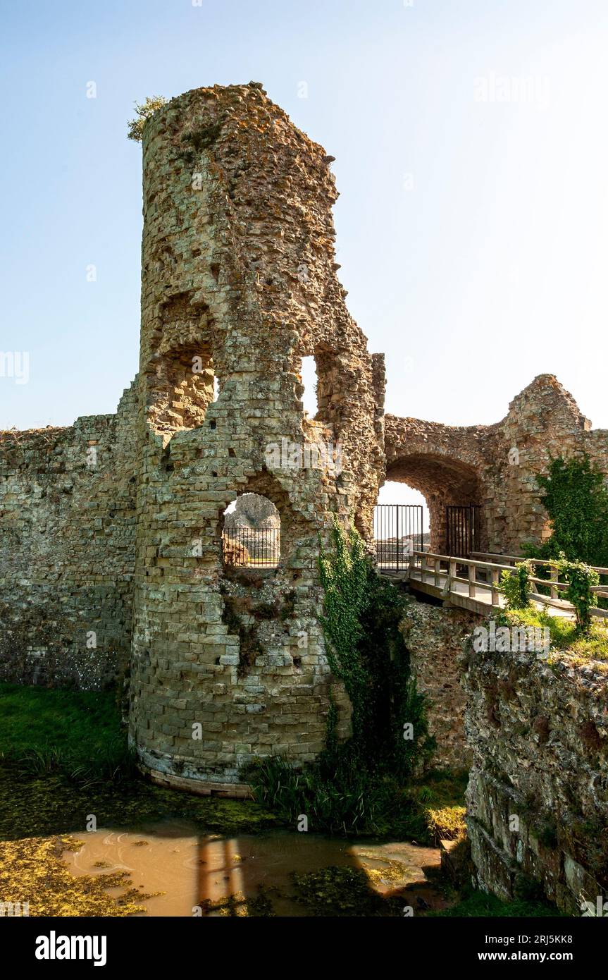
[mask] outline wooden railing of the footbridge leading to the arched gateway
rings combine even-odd
[[[414,551],[411,553],[409,559],[409,574],[412,577],[413,572],[415,580],[415,572],[419,571],[422,581],[424,581],[425,575],[432,575],[435,587],[445,591],[445,585],[447,585],[447,592],[457,591],[456,589],[452,589],[452,583],[466,585],[470,599],[476,598],[478,589],[489,591],[491,593],[491,606],[499,607],[500,590],[498,585],[501,572],[512,571],[513,566],[518,562],[522,562],[523,559],[513,555],[491,555],[484,552],[476,552],[475,555],[475,558],[458,558],[449,555],[437,555],[432,552]],[[498,561],[484,561],[484,559],[488,558],[497,559]],[[534,570],[537,570],[537,566],[548,567],[550,569],[550,578],[539,578],[537,575],[531,575],[530,581],[548,588],[549,595],[544,595],[537,591],[531,592],[530,598],[545,606],[553,606],[566,612],[574,612],[574,607],[571,603],[559,598],[559,593],[568,588],[568,583],[559,581],[559,568],[557,564],[541,559],[532,559],[531,561]],[[466,569],[466,575],[458,573],[461,568]],[[608,575],[608,568],[595,567],[595,571],[600,575]],[[479,573],[484,574],[485,578],[480,579]],[[595,585],[592,587],[592,592],[598,597],[608,598],[608,584]],[[608,610],[593,608],[591,614],[608,618]]]

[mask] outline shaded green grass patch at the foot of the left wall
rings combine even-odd
[[[132,775],[116,694],[0,684],[0,760],[71,778]]]

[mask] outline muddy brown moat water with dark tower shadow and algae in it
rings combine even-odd
[[[434,848],[290,831],[219,837],[176,820],[73,836],[82,847],[66,856],[72,873],[128,871],[132,886],[151,895],[146,915],[398,915],[416,902],[445,906],[427,877],[439,869]]]

